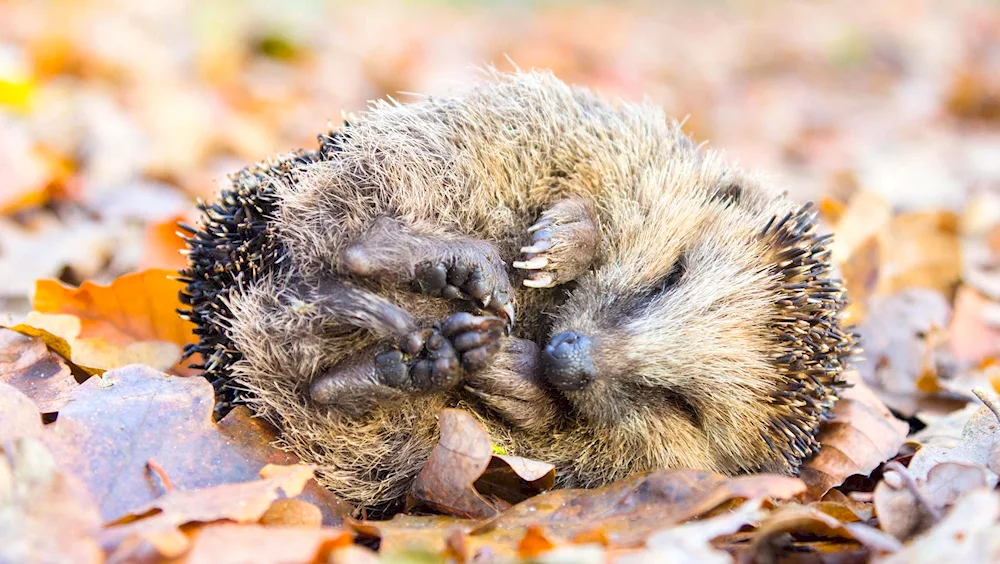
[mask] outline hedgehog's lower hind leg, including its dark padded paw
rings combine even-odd
[[[344,359],[317,377],[309,393],[318,404],[361,414],[407,393],[448,390],[489,365],[502,336],[503,321],[496,317],[453,313],[398,343],[374,345]]]

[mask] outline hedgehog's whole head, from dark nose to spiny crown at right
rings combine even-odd
[[[740,428],[746,444],[760,443],[811,403],[790,439],[801,458],[814,446],[815,408],[833,401],[828,387],[801,382],[835,379],[853,347],[836,323],[843,293],[827,278],[826,239],[805,211],[710,194],[626,218],[630,228],[561,307],[546,378],[576,416],[647,439],[669,428],[711,441],[713,429]],[[781,399],[809,388],[815,397]]]

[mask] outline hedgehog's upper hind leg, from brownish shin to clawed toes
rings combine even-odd
[[[341,253],[351,274],[396,279],[431,296],[464,299],[513,321],[513,290],[493,244],[453,234],[426,234],[381,217]]]

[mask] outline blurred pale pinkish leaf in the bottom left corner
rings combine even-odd
[[[100,526],[87,489],[41,441],[0,442],[0,562],[103,562]]]

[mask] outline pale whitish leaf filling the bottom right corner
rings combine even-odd
[[[948,515],[879,564],[941,564],[1000,561],[1000,493],[980,488],[965,494]]]

